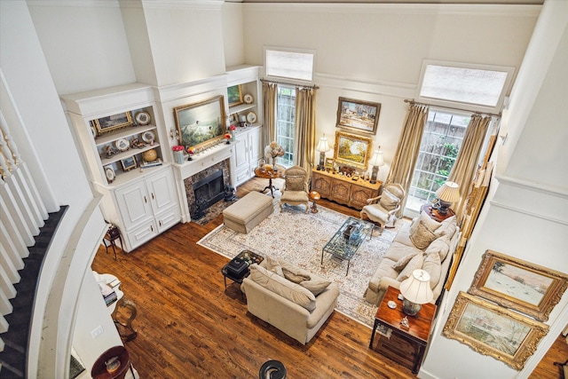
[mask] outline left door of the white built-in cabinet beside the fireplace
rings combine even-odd
[[[154,217],[144,180],[118,188],[115,195],[127,230]]]

